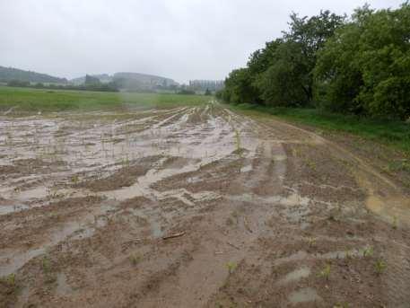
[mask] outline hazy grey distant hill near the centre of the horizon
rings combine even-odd
[[[149,90],[159,86],[169,87],[171,85],[178,85],[177,82],[170,78],[140,73],[120,72],[114,75],[92,75],[92,77],[100,79],[100,82],[103,84],[114,82],[120,88],[129,90]],[[84,82],[85,76],[70,80],[72,84],[83,84]]]

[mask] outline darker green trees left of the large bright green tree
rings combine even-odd
[[[318,50],[344,21],[344,16],[328,11],[310,19],[293,13],[283,38],[267,42],[249,57],[248,67],[231,72],[223,100],[288,107],[310,104]]]

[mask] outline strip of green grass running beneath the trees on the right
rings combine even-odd
[[[327,113],[314,109],[269,108],[250,104],[232,106],[236,110],[257,111],[311,127],[346,132],[410,154],[410,123],[388,119],[368,119],[352,115]]]

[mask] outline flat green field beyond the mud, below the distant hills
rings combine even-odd
[[[0,110],[16,111],[109,110],[169,108],[203,104],[204,95],[135,92],[85,92],[0,86]]]

